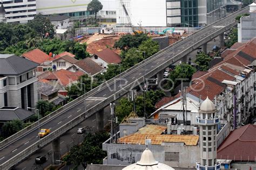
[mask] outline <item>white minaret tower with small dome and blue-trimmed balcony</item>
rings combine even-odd
[[[200,117],[197,117],[197,124],[200,130],[200,162],[197,162],[197,170],[220,169],[217,162],[217,124],[219,117],[215,114],[216,108],[213,102],[207,97],[199,109]]]

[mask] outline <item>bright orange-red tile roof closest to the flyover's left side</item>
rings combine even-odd
[[[62,86],[66,87],[73,81],[77,81],[82,75],[84,75],[84,73],[80,71],[73,73],[65,69],[60,69],[57,72],[53,72],[52,74],[46,76],[44,79],[49,81],[58,80]]]

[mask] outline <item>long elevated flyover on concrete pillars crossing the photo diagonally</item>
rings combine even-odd
[[[97,114],[98,129],[101,130],[103,128],[102,110],[109,103],[142,83],[144,74],[146,78],[150,78],[162,72],[170,64],[179,61],[194,49],[207,44],[208,41],[235,26],[237,24],[235,17],[247,12],[248,7],[194,32],[44,117],[40,120],[40,124],[41,128],[51,129],[48,136],[38,139],[38,122],[36,122],[2,141],[0,143],[0,169],[15,166],[52,141],[54,145],[57,145],[59,137],[93,114]]]

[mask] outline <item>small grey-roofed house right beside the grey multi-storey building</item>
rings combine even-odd
[[[55,105],[64,105],[65,96],[58,94],[58,89],[44,82],[37,82],[38,100],[52,102]]]

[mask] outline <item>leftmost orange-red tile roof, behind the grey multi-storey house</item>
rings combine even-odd
[[[33,49],[32,51],[23,53],[22,56],[39,64],[42,64],[45,61],[51,61],[51,57],[42,52],[40,49]]]

